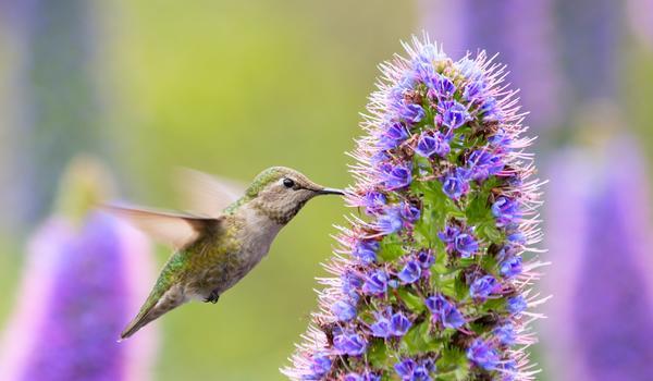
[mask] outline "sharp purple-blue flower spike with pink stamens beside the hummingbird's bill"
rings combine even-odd
[[[528,380],[538,182],[515,91],[428,37],[383,64],[295,380]]]

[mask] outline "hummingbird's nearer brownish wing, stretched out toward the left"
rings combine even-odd
[[[103,209],[128,220],[155,241],[175,249],[193,243],[200,233],[217,230],[220,218],[157,211],[151,209],[106,205]]]

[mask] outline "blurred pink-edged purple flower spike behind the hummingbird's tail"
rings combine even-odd
[[[146,237],[98,211],[109,177],[73,160],[57,211],[28,245],[16,307],[0,347],[1,380],[148,380],[156,329],[126,343],[120,331],[153,276]]]

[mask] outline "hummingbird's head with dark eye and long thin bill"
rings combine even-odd
[[[340,189],[316,184],[298,171],[272,167],[259,173],[246,190],[254,207],[272,220],[286,224],[311,198],[344,195]]]

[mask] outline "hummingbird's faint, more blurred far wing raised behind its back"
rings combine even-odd
[[[177,170],[175,182],[185,209],[211,217],[220,216],[224,208],[243,196],[246,188],[237,181],[186,168]]]

